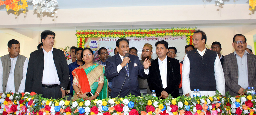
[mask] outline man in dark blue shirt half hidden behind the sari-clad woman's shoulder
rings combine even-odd
[[[74,76],[72,74],[72,71],[75,68],[84,65],[84,61],[81,58],[82,50],[83,50],[83,48],[81,48],[81,47],[75,49],[76,61],[69,64],[70,93],[71,93],[72,96],[73,96],[73,91],[74,91],[74,88],[73,88]]]

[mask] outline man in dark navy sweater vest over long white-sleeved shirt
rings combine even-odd
[[[215,91],[225,95],[225,79],[217,52],[205,48],[205,32],[198,30],[193,35],[196,49],[187,52],[182,68],[183,94],[193,97],[199,89],[201,96],[214,96]]]

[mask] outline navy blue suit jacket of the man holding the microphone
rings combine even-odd
[[[130,93],[135,96],[140,96],[138,75],[140,75],[142,79],[146,79],[148,77],[148,75],[144,72],[144,67],[141,65],[139,57],[135,55],[129,55],[129,58],[131,61],[128,64],[129,77],[127,75],[126,80],[125,67],[123,67],[119,73],[117,72],[117,66],[122,63],[122,59],[119,54],[114,55],[106,60],[107,63],[105,67],[105,76],[107,79],[112,79],[111,96],[113,98],[118,96],[124,80],[125,83],[119,97],[125,97]]]

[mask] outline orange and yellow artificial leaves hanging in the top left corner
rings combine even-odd
[[[21,1],[21,2],[20,2]],[[27,0],[0,0],[0,6],[6,5],[6,10],[14,10],[14,14],[18,15],[20,9],[24,9],[23,13],[26,13],[26,9],[28,7]]]

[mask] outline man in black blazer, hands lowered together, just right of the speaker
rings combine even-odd
[[[181,82],[179,60],[166,56],[168,43],[164,40],[155,43],[157,59],[149,67],[148,84],[155,90],[156,96],[166,99],[169,94],[173,98],[179,96],[178,86]]]

